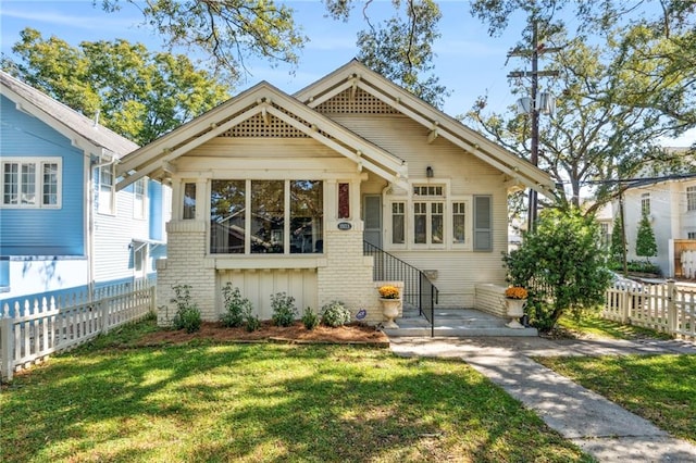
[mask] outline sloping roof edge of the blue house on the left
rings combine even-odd
[[[12,100],[17,110],[51,126],[79,149],[120,159],[138,148],[137,143],[3,71],[0,71],[0,93]]]

